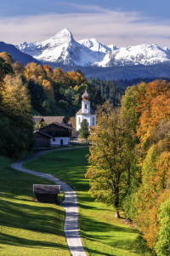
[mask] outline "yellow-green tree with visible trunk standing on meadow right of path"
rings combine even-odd
[[[113,205],[116,218],[130,183],[130,160],[133,158],[133,132],[119,109],[106,103],[97,112],[97,124],[90,136],[90,193],[96,201]]]

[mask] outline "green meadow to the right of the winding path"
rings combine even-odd
[[[136,256],[138,231],[125,220],[114,218],[113,207],[106,207],[88,194],[88,148],[68,149],[43,154],[25,164],[37,172],[55,173],[56,177],[76,189],[79,207],[79,229],[83,245],[90,256]]]

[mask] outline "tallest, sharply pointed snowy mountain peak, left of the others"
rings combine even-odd
[[[57,33],[53,38],[40,43],[25,42],[15,46],[43,63],[53,62],[64,65],[90,66],[94,62],[102,61],[105,57],[104,53],[94,52],[75,41],[67,28]]]

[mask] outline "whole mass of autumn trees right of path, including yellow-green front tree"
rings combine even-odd
[[[98,108],[86,177],[90,193],[144,233],[143,255],[170,255],[170,83],[128,87],[122,107]]]

